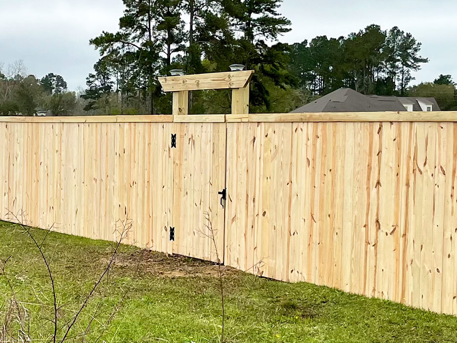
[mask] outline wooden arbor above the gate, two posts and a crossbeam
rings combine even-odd
[[[189,91],[231,89],[231,113],[249,113],[249,83],[254,70],[165,76],[159,81],[164,92],[173,92],[173,114],[189,114]]]

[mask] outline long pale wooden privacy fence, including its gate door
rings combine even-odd
[[[215,261],[208,213],[228,266],[457,314],[457,112],[247,114],[236,82],[229,115],[0,117],[0,218]]]

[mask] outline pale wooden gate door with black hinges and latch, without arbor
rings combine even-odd
[[[226,124],[176,123],[175,132],[173,252],[217,262],[217,246],[223,262]]]

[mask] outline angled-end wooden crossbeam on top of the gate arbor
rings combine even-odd
[[[159,77],[164,92],[245,88],[254,70]]]

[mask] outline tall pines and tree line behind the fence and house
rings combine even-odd
[[[282,0],[123,2],[118,31],[103,31],[90,40],[100,59],[74,105],[80,112],[171,113],[171,95],[162,92],[159,76],[172,69],[228,71],[234,63],[255,70],[251,112],[288,112],[341,87],[376,95],[444,92],[445,107],[455,105],[450,76],[447,85],[411,88],[412,73],[428,58],[420,55],[421,43],[398,27],[382,30],[373,24],[347,36],[289,45],[279,42],[291,30],[291,22],[279,13]],[[1,75],[0,82],[11,80]],[[51,98],[65,92],[46,89]],[[228,91],[191,92],[190,113],[227,113],[230,96]]]

